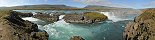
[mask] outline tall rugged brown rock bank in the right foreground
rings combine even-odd
[[[155,40],[155,9],[144,10],[134,22],[127,24],[124,40]]]

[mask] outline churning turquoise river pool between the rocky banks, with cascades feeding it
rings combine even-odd
[[[105,14],[109,17],[110,14]],[[66,23],[60,16],[59,21],[47,23],[45,21],[26,17],[24,20],[38,24],[39,29],[49,34],[49,40],[69,40],[72,36],[81,36],[86,40],[123,40],[125,25],[131,20],[113,21],[114,19],[94,24],[71,24]],[[113,17],[115,18],[115,17]],[[32,20],[33,19],[33,20]],[[117,18],[116,18],[117,19]]]

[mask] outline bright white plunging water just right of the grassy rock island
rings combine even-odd
[[[113,22],[129,20],[128,18],[126,19],[119,18],[113,12],[100,12],[100,13],[106,15],[108,19],[112,20]]]

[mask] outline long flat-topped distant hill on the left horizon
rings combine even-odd
[[[13,7],[0,7],[0,9],[78,9],[76,7],[66,5],[23,5]]]

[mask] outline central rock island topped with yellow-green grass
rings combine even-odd
[[[95,23],[107,20],[107,16],[97,12],[83,14],[66,14],[63,18],[67,23]]]

